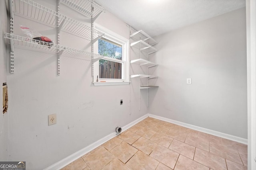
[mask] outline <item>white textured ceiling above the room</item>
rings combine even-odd
[[[246,0],[94,0],[150,36],[190,25],[245,6]]]

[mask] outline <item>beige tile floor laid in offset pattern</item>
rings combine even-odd
[[[62,170],[247,170],[247,145],[148,117]]]

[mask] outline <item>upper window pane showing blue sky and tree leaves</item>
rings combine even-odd
[[[122,45],[101,38],[98,40],[98,53],[106,57],[122,60]]]

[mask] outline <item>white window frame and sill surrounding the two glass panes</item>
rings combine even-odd
[[[103,38],[109,39],[115,43],[122,45],[122,60],[113,59],[111,57],[103,57],[102,59],[106,59],[113,62],[122,63],[122,79],[114,79],[114,78],[99,78],[99,61],[94,63],[94,76],[93,76],[93,83],[94,86],[108,86],[108,85],[126,85],[130,82],[130,59],[129,59],[129,40],[102,27],[99,24],[94,23],[94,28],[98,31],[104,33]],[[98,53],[98,41],[94,43],[94,53]],[[96,82],[98,76],[98,82]]]

